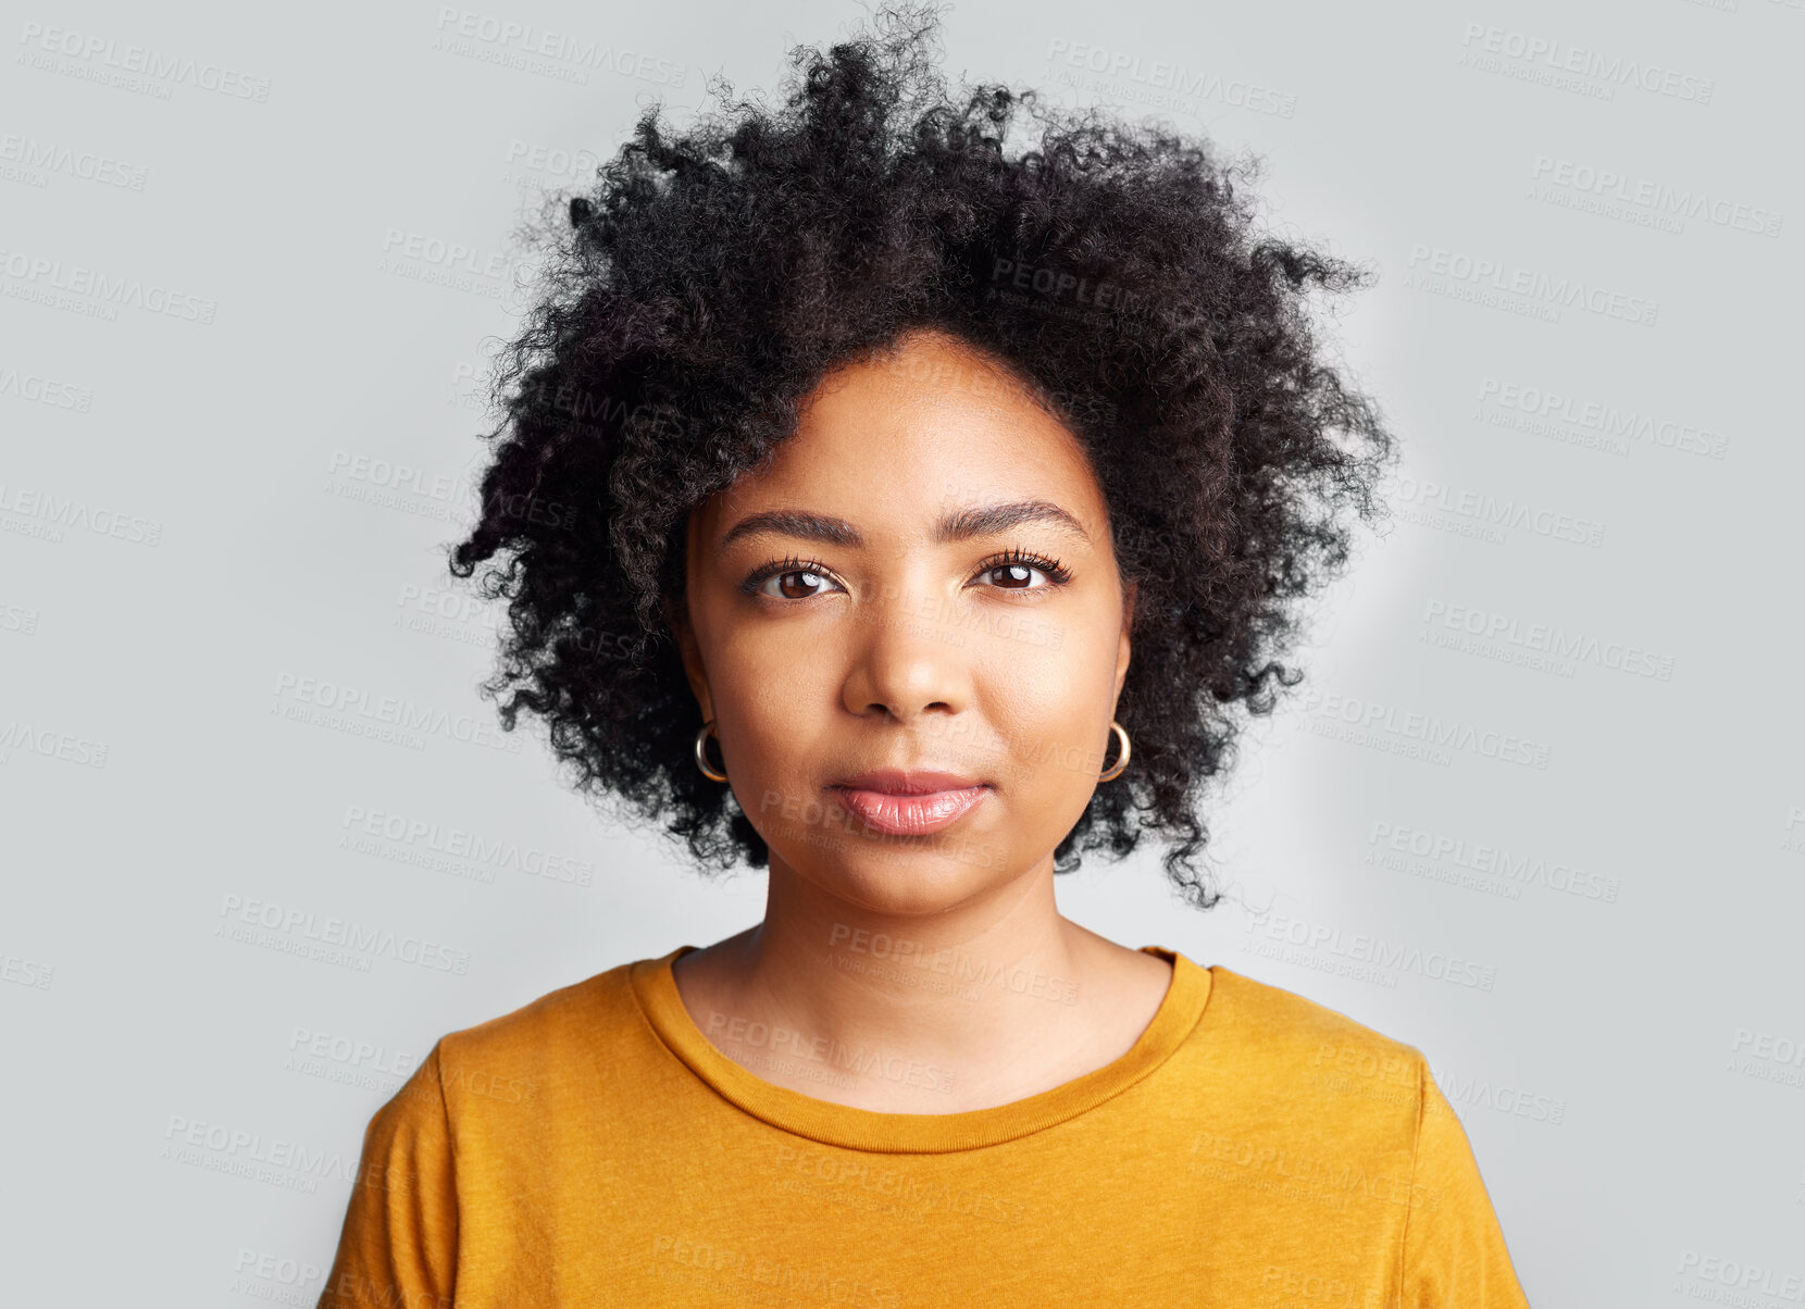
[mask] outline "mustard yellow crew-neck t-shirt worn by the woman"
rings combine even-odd
[[[449,1033],[370,1121],[321,1309],[1525,1305],[1422,1054],[1222,966],[957,1114],[764,1082],[662,959]]]

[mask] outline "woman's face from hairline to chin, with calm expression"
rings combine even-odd
[[[951,908],[1045,865],[1115,758],[1134,598],[1103,491],[1058,419],[940,334],[830,376],[690,516],[688,590],[709,758],[774,874]]]

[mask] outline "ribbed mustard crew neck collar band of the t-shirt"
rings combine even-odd
[[[646,1022],[682,1063],[747,1114],[825,1145],[892,1154],[942,1154],[1000,1145],[1078,1118],[1146,1078],[1184,1044],[1204,1017],[1213,975],[1175,950],[1141,946],[1171,964],[1166,998],[1146,1031],[1117,1060],[1049,1091],[1007,1105],[958,1114],[881,1114],[780,1087],[740,1067],[695,1026],[671,975],[671,964],[697,950],[677,946],[661,959],[641,959],[628,980]]]

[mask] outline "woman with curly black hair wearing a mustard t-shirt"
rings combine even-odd
[[[1392,451],[1301,312],[1356,271],[1197,144],[949,101],[931,27],[569,206],[453,569],[509,554],[504,722],[765,917],[444,1036],[323,1305],[1523,1304],[1417,1049],[1054,903],[1144,834],[1215,901]]]

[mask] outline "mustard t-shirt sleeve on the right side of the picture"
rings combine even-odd
[[[1422,1063],[1402,1309],[1529,1309],[1466,1128]]]

